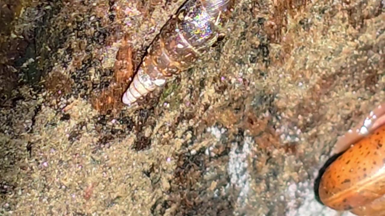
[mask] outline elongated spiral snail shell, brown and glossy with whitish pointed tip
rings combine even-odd
[[[123,103],[131,105],[163,86],[167,78],[194,66],[216,42],[233,6],[234,0],[189,0],[154,40]]]

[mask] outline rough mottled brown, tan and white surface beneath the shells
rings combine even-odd
[[[134,107],[121,94],[182,0],[6,3],[0,214],[336,214],[313,181],[384,99],[384,2],[283,2],[239,1]]]

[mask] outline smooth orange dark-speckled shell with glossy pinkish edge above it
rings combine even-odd
[[[344,150],[321,176],[320,200],[338,211],[385,216],[385,103],[342,136],[333,153]]]

